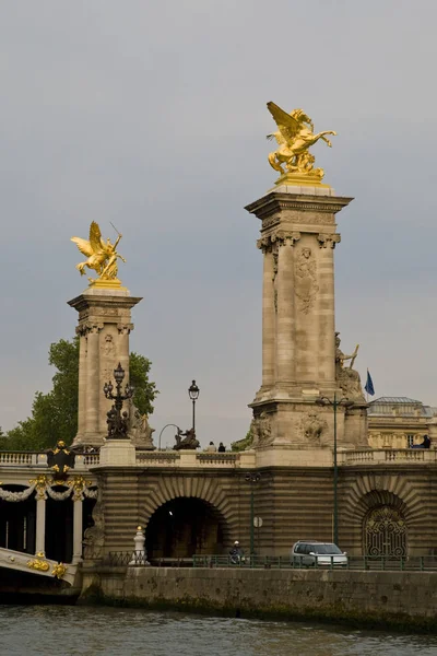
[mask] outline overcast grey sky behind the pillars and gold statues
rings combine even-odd
[[[69,241],[123,233],[132,349],[153,362],[151,420],[243,437],[260,385],[265,108],[303,107],[333,148],[336,326],[377,396],[437,405],[434,0],[4,0],[0,4],[0,425],[50,387],[84,288]],[[79,258],[79,259],[78,259]],[[156,434],[157,434],[156,433]],[[172,443],[172,434],[167,436]],[[163,442],[165,440],[163,437]]]

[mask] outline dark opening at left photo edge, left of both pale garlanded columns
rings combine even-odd
[[[25,485],[2,485],[8,492],[23,492]],[[24,501],[0,500],[0,547],[35,553],[36,501],[32,495]]]

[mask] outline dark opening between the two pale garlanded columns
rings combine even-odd
[[[66,488],[55,485],[55,492]],[[80,503],[80,502],[76,502]],[[64,499],[46,502],[46,557],[61,563],[71,563],[73,558],[73,501]]]

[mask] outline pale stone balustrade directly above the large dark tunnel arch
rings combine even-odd
[[[180,452],[137,452],[137,465],[145,467],[202,467],[251,469],[256,466],[255,452],[206,453]]]

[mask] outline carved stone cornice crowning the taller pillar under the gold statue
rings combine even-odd
[[[265,221],[268,216],[272,216],[283,210],[336,214],[336,212],[340,212],[343,208],[349,206],[351,200],[353,200],[353,198],[341,196],[311,196],[272,191],[259,200],[246,206],[245,209],[258,216],[258,219]],[[306,222],[310,223],[311,221],[312,220]],[[303,221],[303,223],[305,221]]]

